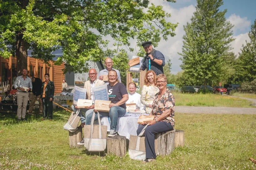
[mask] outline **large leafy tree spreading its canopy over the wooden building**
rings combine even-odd
[[[105,36],[117,47],[129,48],[130,39],[138,44],[151,40],[157,46],[175,35],[177,24],[165,21],[170,14],[162,6],[148,5],[148,0],[1,0],[0,55],[16,55],[19,74],[27,67],[28,49],[32,57],[48,63],[60,45],[63,56],[55,64],[65,61],[65,71],[87,72],[87,61],[98,61],[107,46]]]

